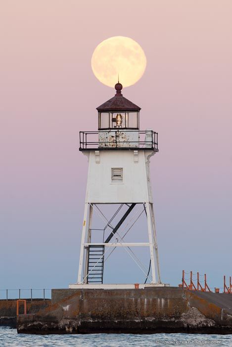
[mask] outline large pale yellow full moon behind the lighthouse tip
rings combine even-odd
[[[129,37],[114,36],[95,48],[91,66],[101,83],[114,87],[119,76],[123,87],[129,87],[142,77],[146,56],[138,42]]]

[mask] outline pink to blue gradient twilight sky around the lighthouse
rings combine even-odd
[[[88,169],[79,131],[97,128],[95,108],[114,95],[91,57],[118,35],[147,58],[123,95],[142,108],[140,128],[159,133],[162,280],[178,285],[185,269],[222,287],[232,275],[231,18],[231,0],[1,1],[0,289],[76,281]],[[123,265],[112,259],[111,282]]]

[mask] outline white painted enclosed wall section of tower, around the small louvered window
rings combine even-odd
[[[152,203],[147,150],[83,152],[89,158],[86,203]],[[111,181],[111,168],[123,168],[123,181]]]

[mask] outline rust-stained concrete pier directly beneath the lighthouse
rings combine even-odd
[[[232,295],[182,288],[53,289],[51,305],[19,315],[19,333],[232,334]]]

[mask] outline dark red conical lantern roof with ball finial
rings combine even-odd
[[[115,84],[116,94],[113,98],[98,106],[97,111],[140,111],[141,108],[124,98],[121,93],[123,86],[121,83]]]

